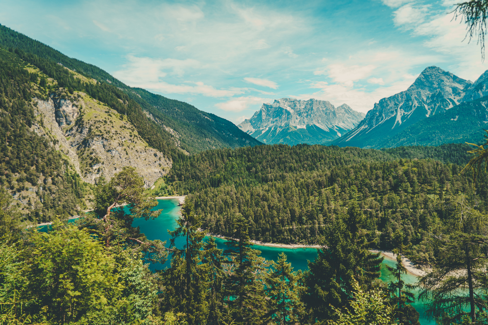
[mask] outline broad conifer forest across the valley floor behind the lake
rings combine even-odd
[[[417,159],[424,149],[446,163]],[[168,176],[180,192],[192,194],[203,226],[214,233],[232,235],[233,220],[243,215],[252,239],[313,244],[334,217],[346,214],[349,200],[357,200],[378,247],[391,248],[400,230],[411,245],[408,255],[431,263],[434,248],[424,238],[442,223],[446,211],[439,203],[446,195],[476,195],[478,208],[487,209],[486,175],[474,194],[470,173],[459,174],[467,149],[268,145],[200,153],[176,162]]]

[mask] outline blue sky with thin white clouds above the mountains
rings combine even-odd
[[[239,124],[283,97],[366,113],[431,65],[475,81],[456,2],[0,0],[0,24]]]

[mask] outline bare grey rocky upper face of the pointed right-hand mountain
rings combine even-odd
[[[469,80],[435,66],[428,67],[406,91],[381,99],[354,130],[334,143],[340,146],[381,148],[389,137],[414,123],[444,114],[463,101],[484,96],[486,88],[480,85],[485,83],[480,81],[478,86],[473,87]]]

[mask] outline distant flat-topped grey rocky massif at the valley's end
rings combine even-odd
[[[264,143],[320,144],[352,130],[364,116],[346,104],[334,107],[325,100],[281,98],[264,103],[238,127]]]

